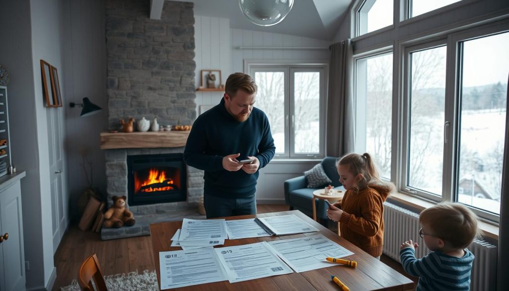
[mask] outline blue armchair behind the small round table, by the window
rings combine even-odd
[[[332,180],[331,185],[336,189],[343,188],[340,182],[340,175],[337,174],[336,169],[337,157],[326,156],[323,158],[321,164],[325,174]],[[327,185],[324,185],[324,187]],[[300,210],[302,213],[309,217],[313,217],[313,191],[321,188],[307,188],[307,180],[304,175],[288,179],[285,181],[285,202],[290,205],[290,210]],[[327,219],[327,204],[320,199],[315,201],[317,209],[317,218]]]

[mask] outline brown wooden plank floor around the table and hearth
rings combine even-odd
[[[258,205],[257,208],[258,213],[269,213],[288,210],[288,205],[266,204]],[[76,279],[81,262],[92,253],[97,254],[105,276],[155,270],[150,235],[101,241],[99,233],[81,231],[77,225],[71,225],[54,255],[56,280],[53,290],[60,290]],[[397,261],[385,255],[382,255],[381,260],[392,269],[416,281],[416,278],[409,277],[403,271]]]

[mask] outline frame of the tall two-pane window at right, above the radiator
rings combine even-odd
[[[468,0],[463,0],[468,1]],[[459,172],[459,147],[460,141],[460,118],[461,118],[461,66],[462,66],[462,42],[496,35],[501,33],[509,33],[509,19],[493,21],[487,24],[479,25],[478,27],[465,28],[451,33],[444,33],[441,37],[428,37],[416,40],[408,40],[401,42],[399,45],[400,54],[398,56],[401,67],[398,69],[399,78],[393,77],[393,82],[399,87],[401,93],[395,98],[401,101],[401,107],[398,109],[397,115],[401,120],[398,126],[398,132],[401,133],[401,139],[398,142],[399,149],[393,147],[392,154],[395,150],[398,151],[397,168],[393,171],[397,172],[397,176],[392,176],[391,180],[395,182],[400,192],[418,197],[420,199],[438,203],[441,201],[458,202],[458,172]],[[419,51],[426,48],[432,48],[440,45],[446,45],[446,81],[445,81],[445,114],[444,123],[449,122],[448,130],[444,131],[444,157],[443,157],[443,176],[442,176],[442,197],[429,194],[417,189],[407,187],[407,171],[408,171],[408,129],[409,129],[409,54],[410,52]],[[397,61],[394,58],[394,65]],[[394,94],[394,92],[393,92]],[[398,96],[401,96],[399,98]],[[398,100],[393,100],[393,104]],[[506,112],[506,114],[508,114]],[[445,125],[445,124],[444,124]],[[394,126],[394,121],[393,121]],[[445,126],[444,126],[445,127]],[[507,130],[507,128],[506,128]],[[398,140],[399,137],[393,137]],[[504,145],[505,150],[509,145]],[[394,159],[393,159],[394,161]],[[394,168],[394,167],[392,167]],[[506,166],[502,171],[506,171]],[[503,193],[501,193],[503,195]],[[486,210],[476,208],[472,205],[464,204],[469,207],[481,220],[491,224],[498,225],[500,216],[489,213]]]

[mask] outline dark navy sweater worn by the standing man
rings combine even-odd
[[[224,99],[200,115],[191,128],[184,149],[184,162],[205,171],[204,192],[222,198],[247,198],[256,192],[259,171],[248,174],[242,169],[227,171],[222,166],[226,155],[240,153],[237,160],[256,156],[260,169],[274,156],[276,147],[269,120],[253,108],[249,118],[240,122],[228,113]]]

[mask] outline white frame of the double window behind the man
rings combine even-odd
[[[288,60],[288,61],[267,61],[267,60],[244,60],[244,72],[254,77],[257,71],[284,71],[285,72],[285,152],[276,153],[274,158],[323,158],[325,156],[325,128],[326,128],[326,104],[327,104],[327,84],[328,84],[328,64],[317,61]],[[295,127],[294,115],[294,96],[293,77],[290,74],[294,72],[319,71],[320,80],[320,132],[319,132],[319,152],[318,153],[295,153]],[[255,80],[256,81],[256,80]],[[256,107],[256,105],[255,105]]]

